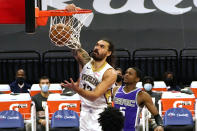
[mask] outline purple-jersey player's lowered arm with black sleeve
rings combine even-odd
[[[139,105],[145,105],[150,113],[154,116],[155,122],[157,124],[157,127],[154,129],[154,131],[164,131],[162,118],[159,115],[157,108],[153,104],[151,96],[148,93],[141,91],[138,94],[138,103]]]

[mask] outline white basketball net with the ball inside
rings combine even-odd
[[[91,13],[74,14],[72,16],[51,16],[49,38],[56,46],[67,46],[78,49],[80,32]]]

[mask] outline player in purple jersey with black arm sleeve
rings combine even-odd
[[[140,76],[138,68],[128,68],[124,75],[125,86],[115,87],[113,91],[115,108],[125,115],[124,131],[138,131],[139,115],[143,106],[146,106],[155,118],[157,127],[154,131],[163,131],[163,122],[152,98],[148,93],[136,88]]]

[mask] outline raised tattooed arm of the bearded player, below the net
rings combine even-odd
[[[89,54],[82,48],[73,50],[73,55],[82,68],[85,64],[87,64],[91,60]]]

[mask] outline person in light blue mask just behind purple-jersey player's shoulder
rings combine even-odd
[[[155,98],[155,106],[159,109],[158,101],[161,99],[161,93],[152,91],[152,88],[154,87],[154,79],[150,76],[145,76],[142,80],[142,86],[152,98]]]

